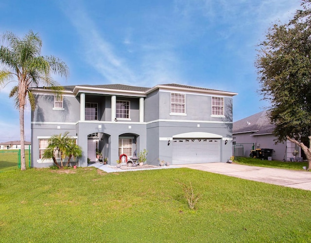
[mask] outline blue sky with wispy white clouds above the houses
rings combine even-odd
[[[239,93],[233,119],[266,103],[254,67],[256,45],[300,0],[1,0],[0,34],[39,33],[42,55],[67,63],[61,85],[178,83]],[[0,141],[19,140],[18,111],[0,89]],[[25,111],[31,138],[30,109]]]

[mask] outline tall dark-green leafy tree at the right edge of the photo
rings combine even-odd
[[[311,0],[285,24],[269,28],[260,43],[255,66],[259,93],[269,101],[268,116],[276,125],[276,142],[300,146],[311,169]],[[304,144],[302,137],[310,143]]]

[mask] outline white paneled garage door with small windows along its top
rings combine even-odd
[[[173,139],[173,164],[220,162],[220,139]]]

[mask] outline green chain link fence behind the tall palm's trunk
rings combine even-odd
[[[31,166],[30,148],[25,149],[26,168]],[[0,150],[0,172],[20,169],[20,149]]]

